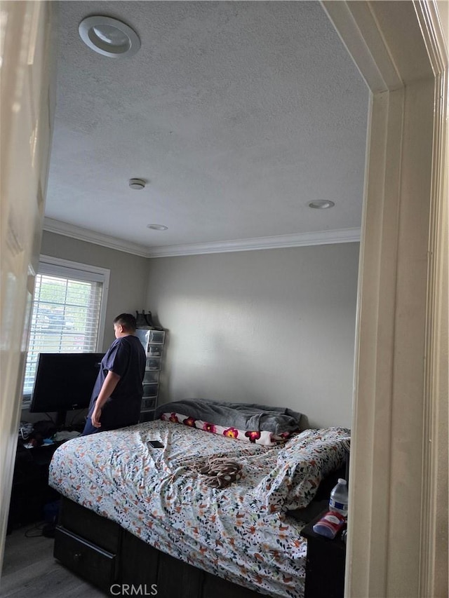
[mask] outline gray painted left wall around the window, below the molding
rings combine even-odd
[[[148,259],[123,251],[108,249],[56,233],[43,231],[41,254],[79,261],[110,270],[105,337],[106,351],[114,340],[112,320],[123,311],[135,314],[145,309],[148,282]]]

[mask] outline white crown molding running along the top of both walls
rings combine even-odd
[[[211,243],[186,243],[185,245],[167,245],[166,247],[145,247],[115,237],[95,233],[79,226],[45,218],[43,230],[64,235],[117,251],[132,253],[140,257],[177,257],[182,255],[199,255],[208,253],[227,253],[236,251],[256,251],[281,247],[304,247],[307,245],[329,245],[332,243],[356,243],[360,240],[360,229],[340,229],[336,231],[317,231],[314,233],[297,233],[293,235],[276,235],[213,241]]]

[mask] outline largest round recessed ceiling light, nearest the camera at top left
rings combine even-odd
[[[103,56],[133,56],[140,48],[138,34],[111,17],[88,17],[81,21],[78,31],[86,46]]]

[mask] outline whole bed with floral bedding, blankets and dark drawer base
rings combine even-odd
[[[253,419],[236,412],[230,421],[214,402],[203,414],[185,403],[55,451],[55,557],[112,595],[145,582],[164,598],[302,597],[302,513],[344,466],[349,430],[298,432],[300,418],[290,422],[295,412],[282,409],[289,425],[273,428],[272,414],[261,419],[254,406]]]

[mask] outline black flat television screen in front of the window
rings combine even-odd
[[[29,411],[66,412],[89,406],[105,353],[39,353]]]

